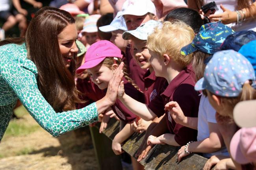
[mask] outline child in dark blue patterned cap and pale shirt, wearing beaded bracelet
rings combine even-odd
[[[181,49],[182,55],[193,53],[193,69],[196,81],[203,77],[206,63],[212,55],[220,50],[224,39],[234,33],[232,29],[221,23],[205,24],[193,39],[192,43]],[[207,38],[204,38],[206,37]],[[207,45],[206,45],[207,44]],[[178,161],[192,152],[203,153],[204,157],[212,155],[228,156],[224,141],[215,119],[216,111],[211,107],[205,92],[201,94],[198,118],[186,117],[176,101],[169,102],[166,108],[170,111],[172,119],[184,126],[197,129],[197,141],[187,143],[178,151]]]

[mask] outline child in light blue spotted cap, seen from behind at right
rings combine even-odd
[[[256,99],[255,85],[252,65],[234,50],[215,53],[206,65],[204,77],[195,85],[195,90],[206,90],[209,102],[217,112],[218,128],[229,153],[230,141],[238,129],[233,119],[234,107],[240,101]],[[219,161],[215,167],[240,169],[241,165],[228,158]]]

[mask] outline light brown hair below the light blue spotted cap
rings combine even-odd
[[[231,110],[233,113],[234,107],[238,102],[249,101],[256,99],[256,90],[251,86],[252,82],[244,83],[242,91],[237,97],[221,97],[221,101],[225,103],[226,109]],[[210,91],[209,91],[210,92]],[[210,92],[210,94],[213,94]],[[233,115],[228,115],[233,117]]]

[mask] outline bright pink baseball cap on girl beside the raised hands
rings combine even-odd
[[[100,40],[92,44],[85,53],[85,61],[76,73],[93,68],[100,64],[106,57],[122,58],[121,50],[108,40]]]

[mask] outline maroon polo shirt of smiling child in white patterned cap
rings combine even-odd
[[[163,77],[156,77],[155,71],[152,71],[152,73],[150,73],[149,69],[143,76],[143,79],[145,84],[145,104],[148,105],[156,98],[156,96],[160,95],[163,92],[163,89],[168,86],[168,82]],[[161,98],[160,102],[162,102]]]

